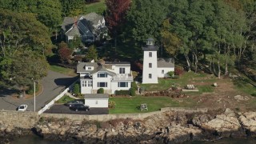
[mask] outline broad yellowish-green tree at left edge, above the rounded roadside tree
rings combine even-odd
[[[0,9],[0,55],[11,56],[27,49],[49,54],[51,48],[48,29],[34,14]]]

